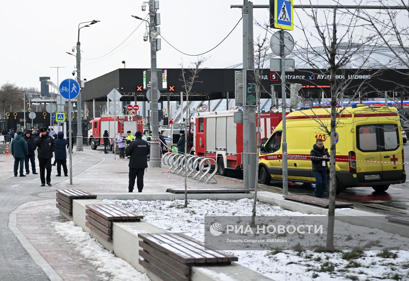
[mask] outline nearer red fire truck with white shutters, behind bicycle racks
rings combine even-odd
[[[238,111],[195,113],[190,120],[189,130],[186,134],[189,139],[188,151],[190,154],[216,159],[218,173],[223,176],[227,174],[229,169],[239,170],[243,168],[241,164],[243,123],[234,123],[233,117],[234,112]],[[282,111],[256,113],[257,117],[258,114],[261,118],[261,142],[263,138],[270,137],[275,127],[281,122]],[[184,129],[184,124],[174,123],[171,131],[173,128]],[[178,140],[179,135],[173,134],[171,144],[176,145]]]

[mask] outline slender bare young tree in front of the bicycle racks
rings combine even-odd
[[[182,87],[184,87],[185,93],[186,93],[186,105],[189,103],[189,94],[192,91],[193,85],[195,83],[203,83],[202,81],[197,81],[199,78],[199,72],[202,69],[201,66],[202,64],[207,60],[206,57],[198,57],[197,61],[191,62],[191,68],[184,68],[183,66],[183,60],[180,63],[180,68],[182,69],[182,78],[180,81],[182,81]],[[181,109],[182,110],[182,109]],[[180,116],[182,116],[182,111],[180,112]],[[182,119],[182,118],[181,118]],[[185,118],[185,143],[184,143],[184,207],[187,207],[187,148],[188,148],[188,143],[189,143],[189,137],[190,137],[190,131],[189,130],[189,123],[190,123],[190,114],[188,109],[186,109],[186,118]]]

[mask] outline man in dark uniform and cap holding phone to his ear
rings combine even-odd
[[[37,158],[38,165],[40,166],[40,179],[41,186],[47,185],[51,186],[51,159],[53,157],[53,152],[56,149],[56,144],[51,136],[48,136],[47,128],[40,128],[40,137],[34,140],[34,144],[37,146]],[[45,177],[45,170],[47,170],[47,177]]]

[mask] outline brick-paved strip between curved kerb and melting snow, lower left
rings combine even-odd
[[[95,267],[54,231],[53,222],[65,221],[51,199],[23,204],[11,213],[9,227],[51,281],[101,280]]]

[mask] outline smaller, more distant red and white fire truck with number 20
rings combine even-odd
[[[112,149],[112,138],[116,133],[126,133],[131,131],[135,134],[136,131],[144,131],[142,118],[139,116],[113,116],[111,114],[103,114],[99,118],[91,118],[88,123],[88,144],[93,150],[103,143],[102,136],[105,130],[109,131],[110,144],[108,150]]]

